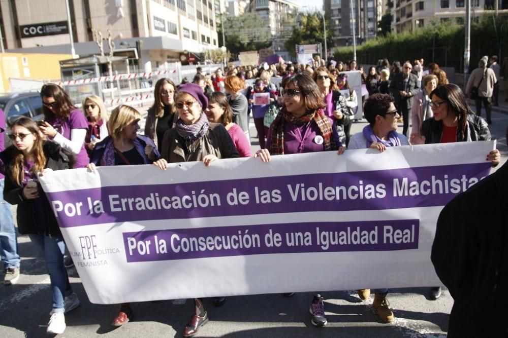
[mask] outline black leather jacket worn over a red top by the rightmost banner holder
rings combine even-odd
[[[434,118],[422,123],[421,134],[425,136],[425,144],[440,143],[443,133],[443,124]],[[460,128],[457,128],[457,142],[463,141],[490,141],[490,130],[487,122],[478,115],[468,114],[464,137]]]

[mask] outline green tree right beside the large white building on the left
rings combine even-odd
[[[270,28],[257,14],[245,13],[237,17],[223,17],[223,19],[226,47],[233,58],[236,58],[240,52],[271,46]],[[220,27],[218,28],[219,45],[222,45],[222,31]]]

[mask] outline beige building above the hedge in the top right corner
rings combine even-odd
[[[412,31],[431,22],[464,23],[465,0],[396,0],[392,10],[392,31]],[[471,0],[472,20],[492,11],[508,14],[508,0]]]

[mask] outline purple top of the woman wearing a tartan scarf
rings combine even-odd
[[[331,119],[330,124],[333,125],[333,121]],[[337,132],[334,130],[332,137],[336,140],[337,144],[339,144],[336,134]],[[318,135],[319,137],[316,137]],[[272,127],[270,127],[266,138],[268,148],[271,138]],[[323,136],[321,134],[321,130],[317,127],[314,121],[302,126],[297,126],[287,121],[284,123],[284,154],[323,152],[325,150],[325,146],[322,141]],[[319,142],[321,142],[321,144],[319,144]]]

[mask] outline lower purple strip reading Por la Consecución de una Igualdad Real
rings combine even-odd
[[[123,233],[128,262],[418,249],[418,219],[262,224]]]

